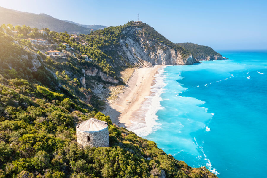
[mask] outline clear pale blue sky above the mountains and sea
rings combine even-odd
[[[267,49],[267,1],[37,1],[8,0],[0,6],[45,13],[81,24],[117,26],[139,20],[172,42],[220,49]]]

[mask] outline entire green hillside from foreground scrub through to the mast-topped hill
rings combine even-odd
[[[159,51],[187,62],[190,52],[144,23],[73,37],[44,30],[47,35],[27,26],[0,28],[1,178],[216,177],[205,167],[175,160],[155,142],[113,125],[98,112],[104,102],[94,91],[123,84],[117,76],[125,67],[170,62]],[[32,44],[27,38],[48,43]],[[48,50],[64,55],[51,57]],[[77,144],[76,125],[91,117],[109,124],[110,147]]]

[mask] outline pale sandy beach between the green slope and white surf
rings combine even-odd
[[[119,127],[127,128],[131,125],[131,121],[136,119],[134,113],[140,109],[146,100],[145,97],[151,93],[155,74],[163,66],[135,69],[123,92],[118,95],[117,100],[107,103],[107,108],[103,113],[109,115],[112,122]]]

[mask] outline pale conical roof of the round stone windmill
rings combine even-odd
[[[91,118],[78,124],[77,130],[84,131],[84,132],[93,132],[93,131],[101,131],[107,127],[108,125],[106,122]]]

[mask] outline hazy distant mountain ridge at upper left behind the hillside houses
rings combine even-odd
[[[34,14],[0,7],[0,24],[3,23],[10,23],[12,25],[26,25],[36,28],[49,28],[50,30],[57,32],[67,31],[69,34],[88,34],[92,31],[91,29],[99,29],[99,27],[87,28],[83,25],[69,23],[67,21],[53,18],[47,14]]]

